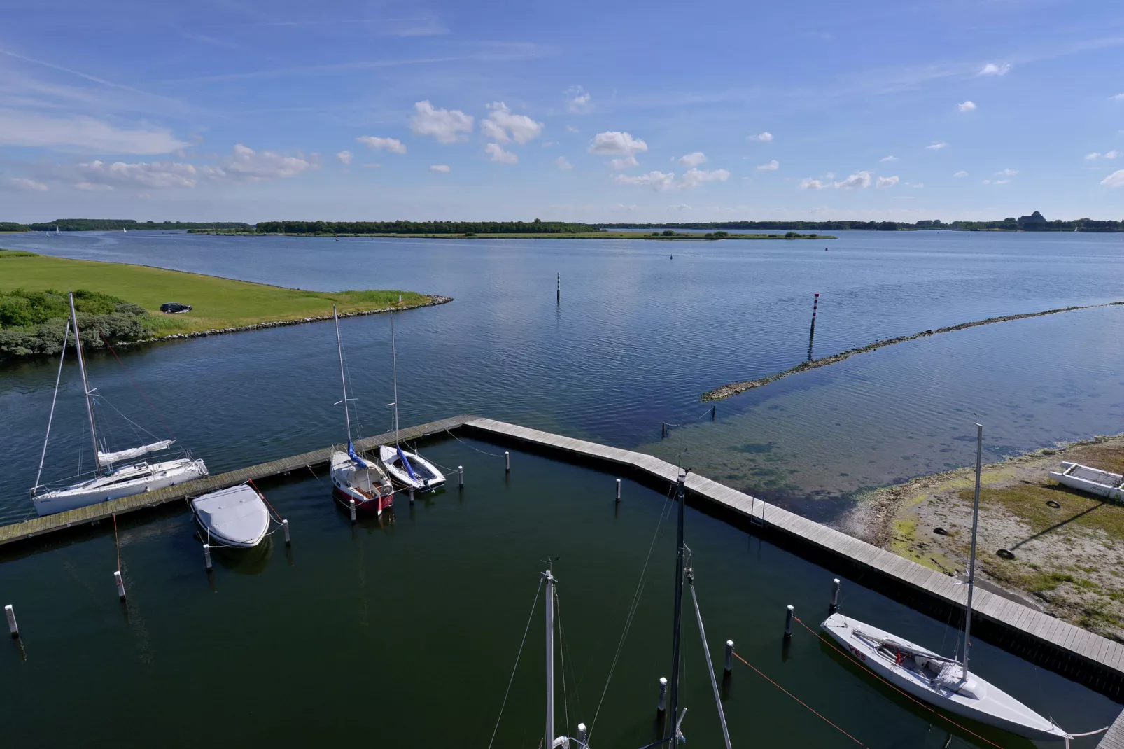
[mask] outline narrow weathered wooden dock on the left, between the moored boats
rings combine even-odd
[[[413,442],[414,440],[418,440],[429,434],[444,432],[445,430],[455,430],[464,424],[464,422],[469,418],[472,417],[466,415],[453,416],[452,418],[443,418],[428,424],[409,426],[404,430],[399,430],[399,435],[402,441]],[[391,444],[393,441],[395,433],[387,432],[386,434],[356,440],[355,449],[360,452],[366,452],[382,444]],[[227,471],[225,473],[216,473],[206,478],[196,479],[194,481],[170,486],[166,489],[158,489],[156,491],[138,494],[132,497],[114,499],[112,502],[101,502],[88,507],[69,509],[56,515],[35,517],[24,521],[22,523],[3,525],[0,526],[0,544],[11,543],[13,541],[25,541],[53,531],[61,531],[67,527],[85,525],[100,520],[106,520],[108,517],[112,517],[114,515],[124,515],[125,513],[143,509],[145,507],[155,507],[156,505],[163,505],[169,502],[187,499],[188,497],[198,497],[199,495],[207,494],[208,491],[217,491],[218,489],[237,486],[251,480],[260,480],[270,476],[283,476],[284,473],[291,473],[296,470],[311,471],[317,466],[327,464],[330,454],[332,448],[324,448],[321,450],[314,450],[312,452],[306,452],[300,455],[282,458],[281,460],[271,460],[266,463],[251,466],[250,468],[239,468],[238,470]]]

